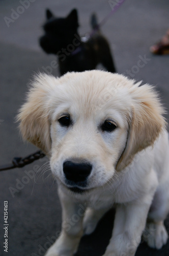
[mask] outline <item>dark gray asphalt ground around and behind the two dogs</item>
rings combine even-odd
[[[92,12],[96,12],[99,20],[102,20],[111,10],[108,1],[103,0],[30,0],[27,9],[19,9],[20,2],[23,1],[0,2],[0,165],[10,162],[14,156],[26,156],[37,150],[33,145],[22,142],[15,116],[24,100],[27,82],[31,76],[39,70],[44,71],[44,68],[55,60],[55,56],[46,55],[38,45],[45,8],[51,8],[58,16],[65,16],[76,7],[81,34],[91,30],[89,18]],[[169,55],[153,56],[149,47],[158,41],[169,27],[168,8],[169,2],[165,0],[126,0],[102,27],[110,42],[118,72],[129,73],[127,70],[130,70],[129,77],[155,84],[166,109],[169,105]],[[17,10],[22,13],[11,16]],[[4,17],[15,19],[8,23]],[[145,66],[139,70],[134,68],[138,60],[144,57],[147,58]],[[52,74],[58,75],[58,70],[53,69]],[[167,119],[168,117],[166,115]],[[61,206],[47,161],[46,158],[41,159],[27,167],[0,173],[0,255],[43,255],[58,236],[61,230]],[[8,253],[4,252],[3,248],[4,201],[8,201],[9,207]],[[114,211],[110,211],[94,234],[82,239],[77,255],[101,256],[110,238],[113,220]],[[169,233],[168,219],[165,224]],[[141,243],[136,256],[167,256],[168,250],[169,241],[159,251]]]

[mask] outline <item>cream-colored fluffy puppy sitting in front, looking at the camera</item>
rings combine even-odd
[[[49,156],[63,210],[60,237],[46,256],[72,256],[82,235],[93,232],[113,205],[104,256],[133,256],[145,228],[150,247],[166,243],[169,146],[163,113],[153,87],[122,75],[95,70],[35,78],[18,115],[20,130]]]

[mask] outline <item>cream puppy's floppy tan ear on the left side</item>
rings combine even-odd
[[[39,74],[32,82],[27,100],[22,105],[17,121],[24,140],[27,140],[45,154],[50,154],[50,95],[54,91],[54,77]]]

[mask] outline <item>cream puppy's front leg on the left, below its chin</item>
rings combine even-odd
[[[62,231],[45,256],[73,256],[82,237],[82,219],[85,206],[72,202],[71,198],[60,193],[62,204]]]

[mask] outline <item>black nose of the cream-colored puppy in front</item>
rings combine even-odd
[[[91,170],[92,165],[89,163],[75,163],[72,161],[66,161],[63,164],[65,177],[67,180],[73,182],[86,181],[87,177],[91,173]]]

